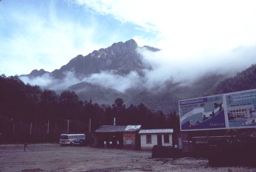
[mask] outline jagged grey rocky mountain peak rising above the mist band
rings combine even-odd
[[[126,42],[113,43],[108,48],[101,48],[92,53],[83,56],[78,55],[70,60],[66,65],[60,69],[56,69],[50,75],[57,79],[63,79],[65,72],[72,71],[78,77],[88,76],[91,73],[100,73],[102,71],[115,71],[116,74],[127,74],[131,71],[137,71],[147,68],[151,69],[148,64],[144,64],[142,56],[137,52],[137,45],[134,39]],[[150,51],[156,51],[157,48],[147,47]],[[46,71],[33,70],[29,76],[35,77],[43,75]]]

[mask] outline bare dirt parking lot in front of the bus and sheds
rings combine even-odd
[[[210,167],[203,158],[151,158],[150,151],[61,147],[58,144],[0,145],[0,172],[256,172],[254,167]]]

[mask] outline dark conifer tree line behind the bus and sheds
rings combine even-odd
[[[163,113],[149,109],[145,104],[125,106],[121,98],[112,105],[81,101],[75,92],[42,90],[38,85],[25,84],[16,76],[0,76],[0,115],[17,121],[76,119],[92,121],[92,130],[101,125],[142,125],[144,129],[178,129],[177,113]]]

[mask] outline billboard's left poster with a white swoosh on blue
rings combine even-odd
[[[179,101],[180,130],[226,128],[223,95]]]

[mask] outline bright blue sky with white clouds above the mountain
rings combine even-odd
[[[163,72],[173,74],[162,82],[177,75],[179,82],[209,69],[242,70],[256,63],[255,6],[254,0],[0,0],[0,73],[51,72],[131,38],[162,50],[141,52],[155,67],[146,75],[151,83]]]

